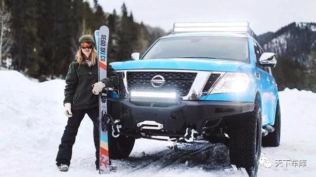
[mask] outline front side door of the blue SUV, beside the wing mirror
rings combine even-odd
[[[254,41],[254,48],[255,48],[255,54],[256,54],[256,59],[257,59],[257,67],[256,67],[256,75],[259,74],[260,75],[260,83],[262,85],[262,90],[261,90],[261,95],[262,95],[262,105],[261,105],[261,109],[262,109],[262,124],[265,125],[269,122],[269,90],[268,90],[268,84],[267,84],[267,80],[268,80],[268,72],[266,68],[261,68],[258,67],[259,64],[259,59],[261,56],[260,53],[260,48],[259,45],[257,44],[256,41]]]

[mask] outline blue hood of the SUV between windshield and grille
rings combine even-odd
[[[219,60],[219,59],[149,59],[126,62],[113,62],[111,66],[115,70],[136,69],[169,69],[169,70],[197,70],[197,71],[237,71],[244,62]]]

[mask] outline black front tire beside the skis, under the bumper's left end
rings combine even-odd
[[[108,132],[108,148],[110,159],[125,159],[131,153],[135,143],[135,138],[120,135],[117,138],[112,136],[112,132]]]

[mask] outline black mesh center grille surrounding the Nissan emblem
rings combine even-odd
[[[156,75],[165,79],[159,88],[154,88],[150,82]],[[188,95],[196,76],[196,72],[130,71],[127,72],[127,84],[129,91],[177,92],[180,97],[184,97]]]

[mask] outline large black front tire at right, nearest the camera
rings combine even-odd
[[[261,154],[261,107],[255,102],[252,112],[229,121],[229,156],[231,164],[245,168],[249,177],[256,177]]]

